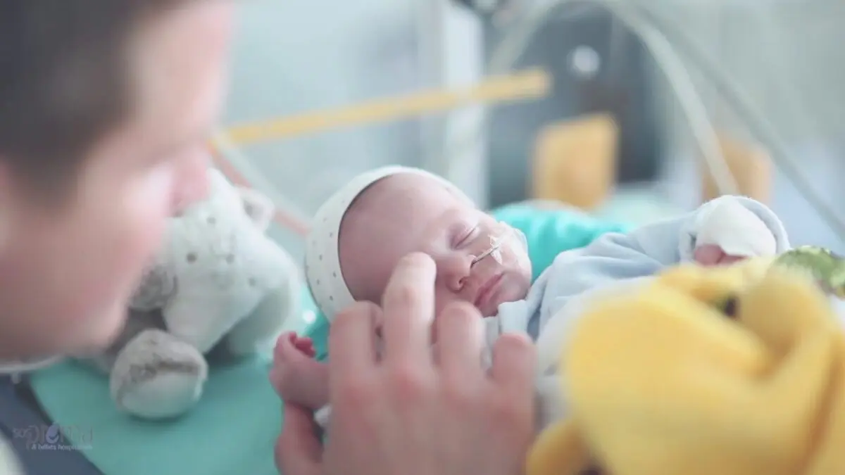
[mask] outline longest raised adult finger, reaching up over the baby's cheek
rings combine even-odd
[[[430,357],[436,271],[434,261],[419,253],[396,265],[382,298],[385,363],[416,364]]]

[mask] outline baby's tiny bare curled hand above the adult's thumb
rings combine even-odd
[[[313,370],[313,341],[288,332],[279,336],[273,350],[273,367],[270,369],[270,383],[286,401],[297,400],[302,385],[307,384],[308,371]]]

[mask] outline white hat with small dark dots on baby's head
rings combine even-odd
[[[338,235],[341,221],[349,205],[365,189],[384,177],[398,173],[414,173],[433,178],[443,183],[455,196],[471,201],[460,189],[443,177],[419,168],[390,166],[363,172],[352,178],[341,189],[325,201],[314,216],[308,242],[305,245],[305,276],[314,303],[329,321],[342,309],[355,302],[349,286],[341,272],[341,258],[338,248]]]

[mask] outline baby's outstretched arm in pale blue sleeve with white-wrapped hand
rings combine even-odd
[[[726,255],[752,257],[780,254],[789,243],[780,219],[766,205],[723,196],[685,215],[624,234],[608,233],[585,248],[559,254],[537,281],[546,286],[537,322],[541,364],[557,361],[572,320],[588,300],[601,292],[622,292],[667,266],[694,261],[696,249],[712,246]]]

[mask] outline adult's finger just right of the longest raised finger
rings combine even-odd
[[[484,344],[482,314],[469,303],[455,303],[443,309],[437,327],[437,361],[444,374],[466,378],[480,374]]]

